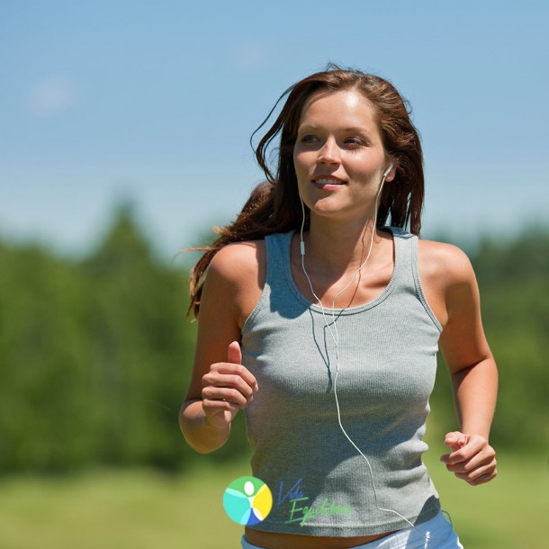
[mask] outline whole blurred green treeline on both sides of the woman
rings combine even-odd
[[[486,240],[473,264],[501,373],[495,444],[546,448],[549,233]],[[196,327],[181,265],[155,256],[128,209],[84,260],[0,243],[0,473],[95,464],[175,471],[247,454],[243,414],[228,445],[208,457],[179,434]],[[444,368],[438,377],[437,424],[453,428]]]

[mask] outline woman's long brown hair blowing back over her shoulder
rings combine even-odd
[[[302,223],[302,205],[297,178],[293,167],[293,147],[302,108],[306,101],[320,91],[337,92],[356,89],[374,108],[375,121],[382,138],[383,148],[396,166],[396,175],[390,185],[383,188],[377,214],[381,227],[390,220],[394,227],[406,228],[419,234],[424,197],[423,154],[419,132],[410,121],[409,105],[387,80],[329,65],[327,70],[307,76],[291,85],[269,112],[266,120],[252,134],[261,130],[284,97],[287,99],[275,123],[257,144],[256,158],[266,175],[266,182],[257,185],[236,220],[222,228],[211,246],[193,248],[205,253],[191,272],[191,305],[189,312],[198,316],[202,294],[203,275],[211,258],[232,242],[257,240],[275,232],[299,229]],[[269,167],[271,146],[280,135],[275,155],[275,174]]]

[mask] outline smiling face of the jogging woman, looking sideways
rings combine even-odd
[[[355,90],[311,95],[293,148],[299,191],[311,216],[372,216],[389,164],[373,107],[364,95]],[[393,178],[394,169],[385,181]]]

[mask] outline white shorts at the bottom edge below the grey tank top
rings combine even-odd
[[[263,549],[251,545],[242,536],[242,549]],[[353,549],[464,549],[460,544],[451,522],[446,520],[442,511],[435,518],[399,530],[370,544],[356,545]]]

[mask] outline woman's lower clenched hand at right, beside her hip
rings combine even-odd
[[[472,486],[490,482],[497,474],[496,452],[481,435],[465,435],[459,431],[448,433],[445,445],[452,452],[440,457],[446,469],[458,479]]]

